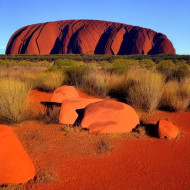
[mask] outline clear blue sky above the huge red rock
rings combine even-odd
[[[164,33],[177,54],[190,54],[190,0],[0,0],[0,53],[25,25],[96,19]]]

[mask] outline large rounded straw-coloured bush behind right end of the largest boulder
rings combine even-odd
[[[151,112],[158,107],[163,89],[163,77],[148,70],[132,71],[128,80],[133,81],[128,89],[127,101],[134,107]]]

